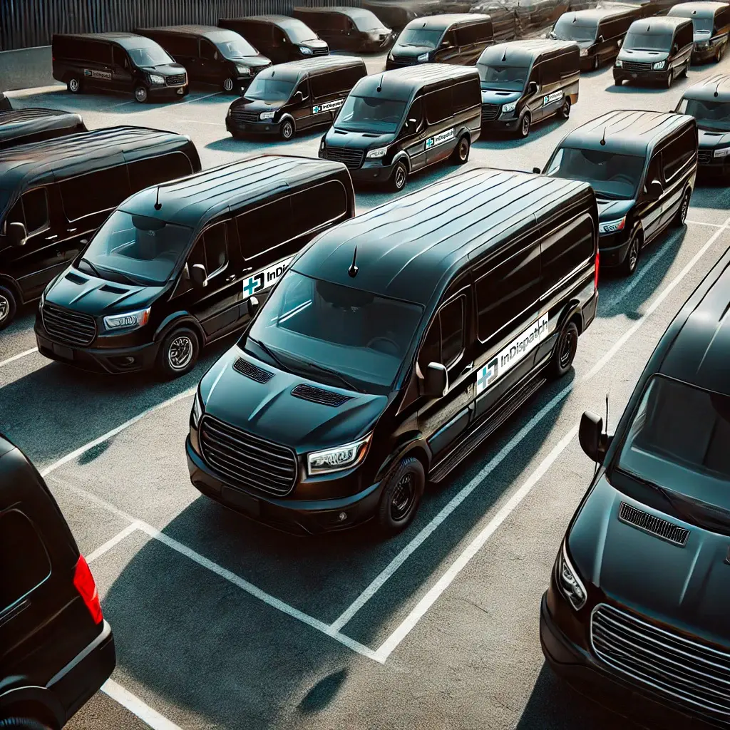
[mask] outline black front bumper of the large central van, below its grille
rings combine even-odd
[[[193,449],[190,437],[185,442],[185,452],[191,482],[198,491],[224,507],[286,532],[320,534],[354,527],[369,520],[380,502],[381,482],[339,499],[302,501],[253,495],[223,482]],[[347,515],[345,520],[339,518],[343,512]]]

